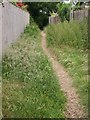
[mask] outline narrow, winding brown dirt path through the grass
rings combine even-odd
[[[79,104],[79,98],[76,94],[76,90],[72,87],[72,81],[68,73],[64,70],[63,66],[58,63],[55,59],[55,56],[51,54],[49,49],[46,47],[46,34],[42,31],[42,48],[45,54],[48,56],[50,62],[52,63],[53,70],[55,71],[61,89],[64,91],[65,95],[67,96],[67,111],[65,115],[67,118],[83,118],[84,112],[83,108]]]

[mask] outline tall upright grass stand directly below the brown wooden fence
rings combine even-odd
[[[47,29],[49,45],[67,45],[76,49],[86,50],[87,40],[87,20],[71,21],[49,25]]]

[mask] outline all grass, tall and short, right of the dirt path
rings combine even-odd
[[[86,21],[49,25],[47,45],[73,78],[80,103],[88,108],[88,40]]]

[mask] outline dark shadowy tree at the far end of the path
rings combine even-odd
[[[28,11],[33,19],[36,21],[40,29],[48,24],[50,12],[57,10],[57,2],[31,2],[28,4]]]

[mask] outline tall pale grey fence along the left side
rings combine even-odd
[[[0,5],[0,49],[2,48],[2,52],[17,40],[28,24],[28,12],[9,2],[5,2],[4,7]]]

